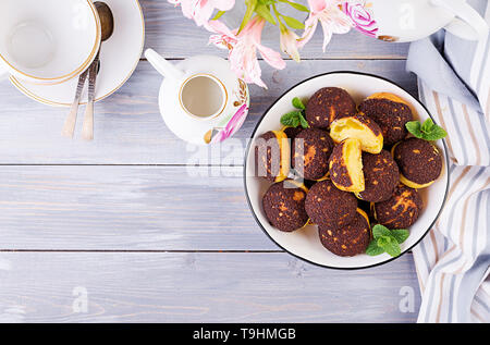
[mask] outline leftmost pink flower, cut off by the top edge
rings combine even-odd
[[[198,26],[206,25],[215,9],[229,11],[235,0],[168,0],[174,5],[181,4],[184,16],[194,20]]]

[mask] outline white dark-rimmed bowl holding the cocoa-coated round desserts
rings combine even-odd
[[[375,257],[365,254],[354,257],[340,257],[330,252],[321,245],[316,225],[308,225],[292,233],[281,232],[269,224],[262,209],[262,196],[271,183],[254,175],[255,159],[254,150],[250,149],[254,140],[268,131],[281,130],[281,115],[293,110],[291,101],[294,97],[307,99],[316,90],[327,86],[344,88],[357,103],[375,93],[392,93],[412,104],[412,111],[417,120],[425,121],[430,116],[427,109],[412,95],[402,87],[379,76],[358,72],[333,72],[306,79],[287,90],[267,110],[252,135],[252,140],[245,152],[244,167],[245,194],[248,205],[264,232],[281,248],[301,259],[336,269],[360,269],[385,263],[394,258],[388,254]],[[401,245],[402,254],[414,247],[428,233],[444,206],[450,178],[448,149],[444,140],[438,140],[436,145],[443,155],[442,173],[430,187],[419,190],[425,207],[418,220],[411,226],[409,237]]]

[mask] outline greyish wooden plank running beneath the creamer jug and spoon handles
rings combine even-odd
[[[335,70],[362,71],[388,77],[413,95],[417,93],[416,78],[405,71],[404,61],[311,60],[301,64],[289,61],[284,71],[261,65],[269,89],[250,87],[250,113],[235,136],[240,140],[228,141],[218,151],[189,146],[167,128],[157,102],[162,77],[146,61],[119,93],[96,104],[93,143],[79,138],[83,116],[78,116],[75,139],[66,139],[60,134],[66,109],[39,104],[2,82],[0,163],[242,164],[245,138],[250,136],[262,113],[285,90],[305,78]],[[228,160],[220,159],[223,156]]]

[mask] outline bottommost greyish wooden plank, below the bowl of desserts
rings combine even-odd
[[[0,252],[0,280],[1,322],[414,322],[420,304],[411,255],[338,271],[281,252]]]

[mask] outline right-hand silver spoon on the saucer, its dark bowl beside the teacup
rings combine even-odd
[[[114,17],[112,15],[111,9],[107,5],[107,3],[96,1],[94,2],[94,5],[96,7],[100,17],[100,26],[102,29],[101,41],[106,41],[109,39],[109,37],[111,37],[114,30]],[[82,137],[85,140],[94,139],[94,99],[97,78],[97,65],[99,63],[99,53],[100,48],[88,72],[88,102],[87,107],[85,108],[84,124],[82,126]]]

